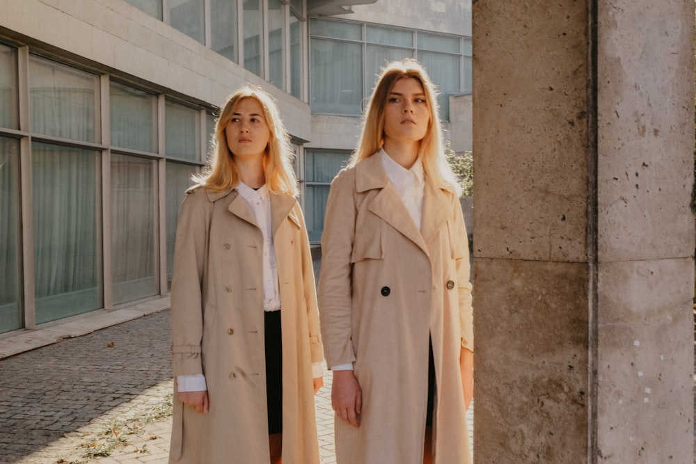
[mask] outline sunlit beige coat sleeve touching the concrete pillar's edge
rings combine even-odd
[[[452,257],[457,266],[457,289],[459,290],[459,326],[461,346],[474,351],[472,285],[470,282],[469,241],[464,226],[464,215],[459,200],[454,198],[452,205],[453,227],[450,230],[450,243],[453,247]]]

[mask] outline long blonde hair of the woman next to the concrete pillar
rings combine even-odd
[[[416,79],[425,93],[425,102],[430,120],[425,137],[420,141],[418,156],[422,160],[425,174],[434,179],[438,186],[453,191],[459,196],[457,178],[452,173],[443,148],[442,128],[437,102],[437,90],[430,80],[425,67],[413,58],[392,61],[382,68],[377,85],[372,91],[367,111],[363,116],[363,131],[358,146],[353,152],[348,166],[355,166],[363,159],[371,157],[384,144],[384,118],[389,93],[400,79]]]

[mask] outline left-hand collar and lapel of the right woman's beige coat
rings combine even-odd
[[[398,230],[404,237],[416,243],[425,253],[428,253],[426,242],[423,240],[420,230],[413,222],[409,210],[399,198],[394,186],[388,182],[386,171],[376,154],[356,165],[356,191],[361,193],[371,189],[381,190],[372,199],[367,209]],[[423,209],[423,223],[425,224],[425,204]]]

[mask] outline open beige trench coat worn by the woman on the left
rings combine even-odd
[[[170,463],[270,461],[262,286],[263,237],[236,190],[191,189],[172,280],[173,374],[205,374],[209,414],[174,399]],[[283,338],[283,463],[318,464],[312,362],[323,358],[301,209],[271,193]],[[176,388],[176,387],[175,387]]]

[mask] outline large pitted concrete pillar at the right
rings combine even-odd
[[[473,2],[476,463],[693,462],[693,31]]]

